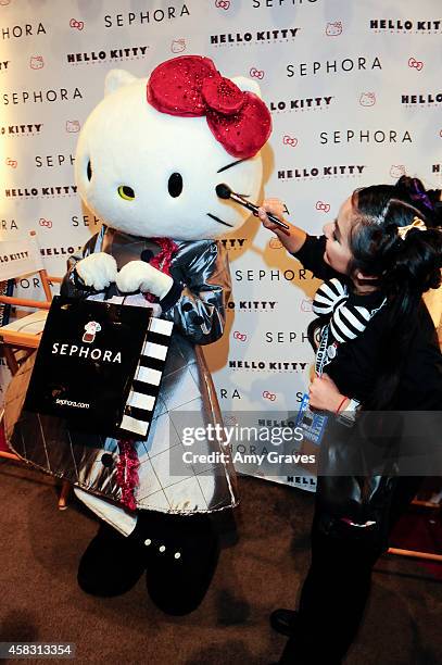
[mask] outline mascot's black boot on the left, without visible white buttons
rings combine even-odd
[[[77,581],[83,591],[110,598],[137,584],[146,570],[146,552],[137,530],[123,536],[105,523],[100,525],[79,562]]]

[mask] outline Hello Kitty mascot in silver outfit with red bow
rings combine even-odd
[[[10,387],[11,448],[72,480],[103,519],[79,564],[78,582],[88,593],[124,593],[146,570],[151,599],[182,615],[199,605],[212,579],[218,543],[210,514],[237,504],[235,469],[228,459],[204,474],[174,475],[174,456],[184,451],[174,417],[184,410],[199,414],[195,425],[222,423],[200,344],[223,335],[230,293],[217,238],[249,213],[219,199],[216,186],[258,197],[258,151],[270,127],[257,85],[224,78],[199,55],[166,61],[148,80],[110,72],[105,97],[83,127],[76,183],[103,226],[71,258],[62,293],[124,297],[174,323],[147,441],[67,431],[60,419],[55,430],[50,417],[21,410],[29,363]],[[209,438],[199,446],[205,453],[222,448]]]

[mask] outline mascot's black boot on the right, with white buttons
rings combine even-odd
[[[140,516],[151,600],[169,615],[193,612],[209,589],[218,561],[218,537],[211,517],[148,512]]]

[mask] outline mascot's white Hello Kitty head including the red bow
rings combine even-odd
[[[160,64],[149,79],[113,70],[78,141],[76,181],[108,226],[141,237],[216,238],[249,213],[216,186],[255,199],[271,121],[257,85],[209,58]]]

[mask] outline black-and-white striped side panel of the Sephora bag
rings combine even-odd
[[[146,437],[160,389],[173,323],[152,318],[126,402],[121,428]]]

